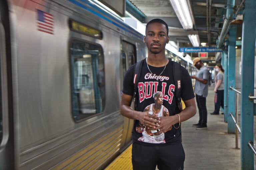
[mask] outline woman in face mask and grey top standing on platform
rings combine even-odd
[[[224,108],[224,69],[221,64],[215,66],[215,70],[218,71],[218,74],[215,77],[215,109],[211,115],[219,115],[220,106]]]

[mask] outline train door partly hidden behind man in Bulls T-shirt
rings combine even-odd
[[[126,70],[136,62],[136,47],[134,44],[122,41],[121,51],[121,77],[120,77],[120,89],[123,89],[123,78]],[[134,104],[132,103],[132,107]],[[124,118],[124,136],[122,138],[122,145],[129,143],[132,139],[133,120]]]

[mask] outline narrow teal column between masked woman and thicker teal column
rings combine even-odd
[[[224,53],[224,122],[228,119],[228,54]]]

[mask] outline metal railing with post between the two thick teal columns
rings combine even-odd
[[[239,94],[241,94],[241,92],[239,92],[238,90],[234,89],[233,86],[230,86],[230,89],[231,90],[234,90],[236,92],[236,108],[235,108],[235,118],[234,118],[234,115],[233,113],[231,112],[230,113],[230,116],[232,117],[233,121],[235,122],[235,125],[236,125],[236,128],[235,128],[235,134],[236,134],[236,149],[238,149],[238,131],[239,133],[241,133],[241,128],[240,126],[238,125],[238,105],[239,105],[239,102],[238,102],[238,98],[239,98]]]

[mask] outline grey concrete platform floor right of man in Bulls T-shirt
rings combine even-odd
[[[182,123],[182,143],[185,150],[184,170],[239,170],[240,149],[235,149],[235,134],[227,133],[224,115],[210,115],[214,111],[214,85],[206,98],[207,129],[196,129],[199,113]],[[240,148],[240,134],[238,135]]]

